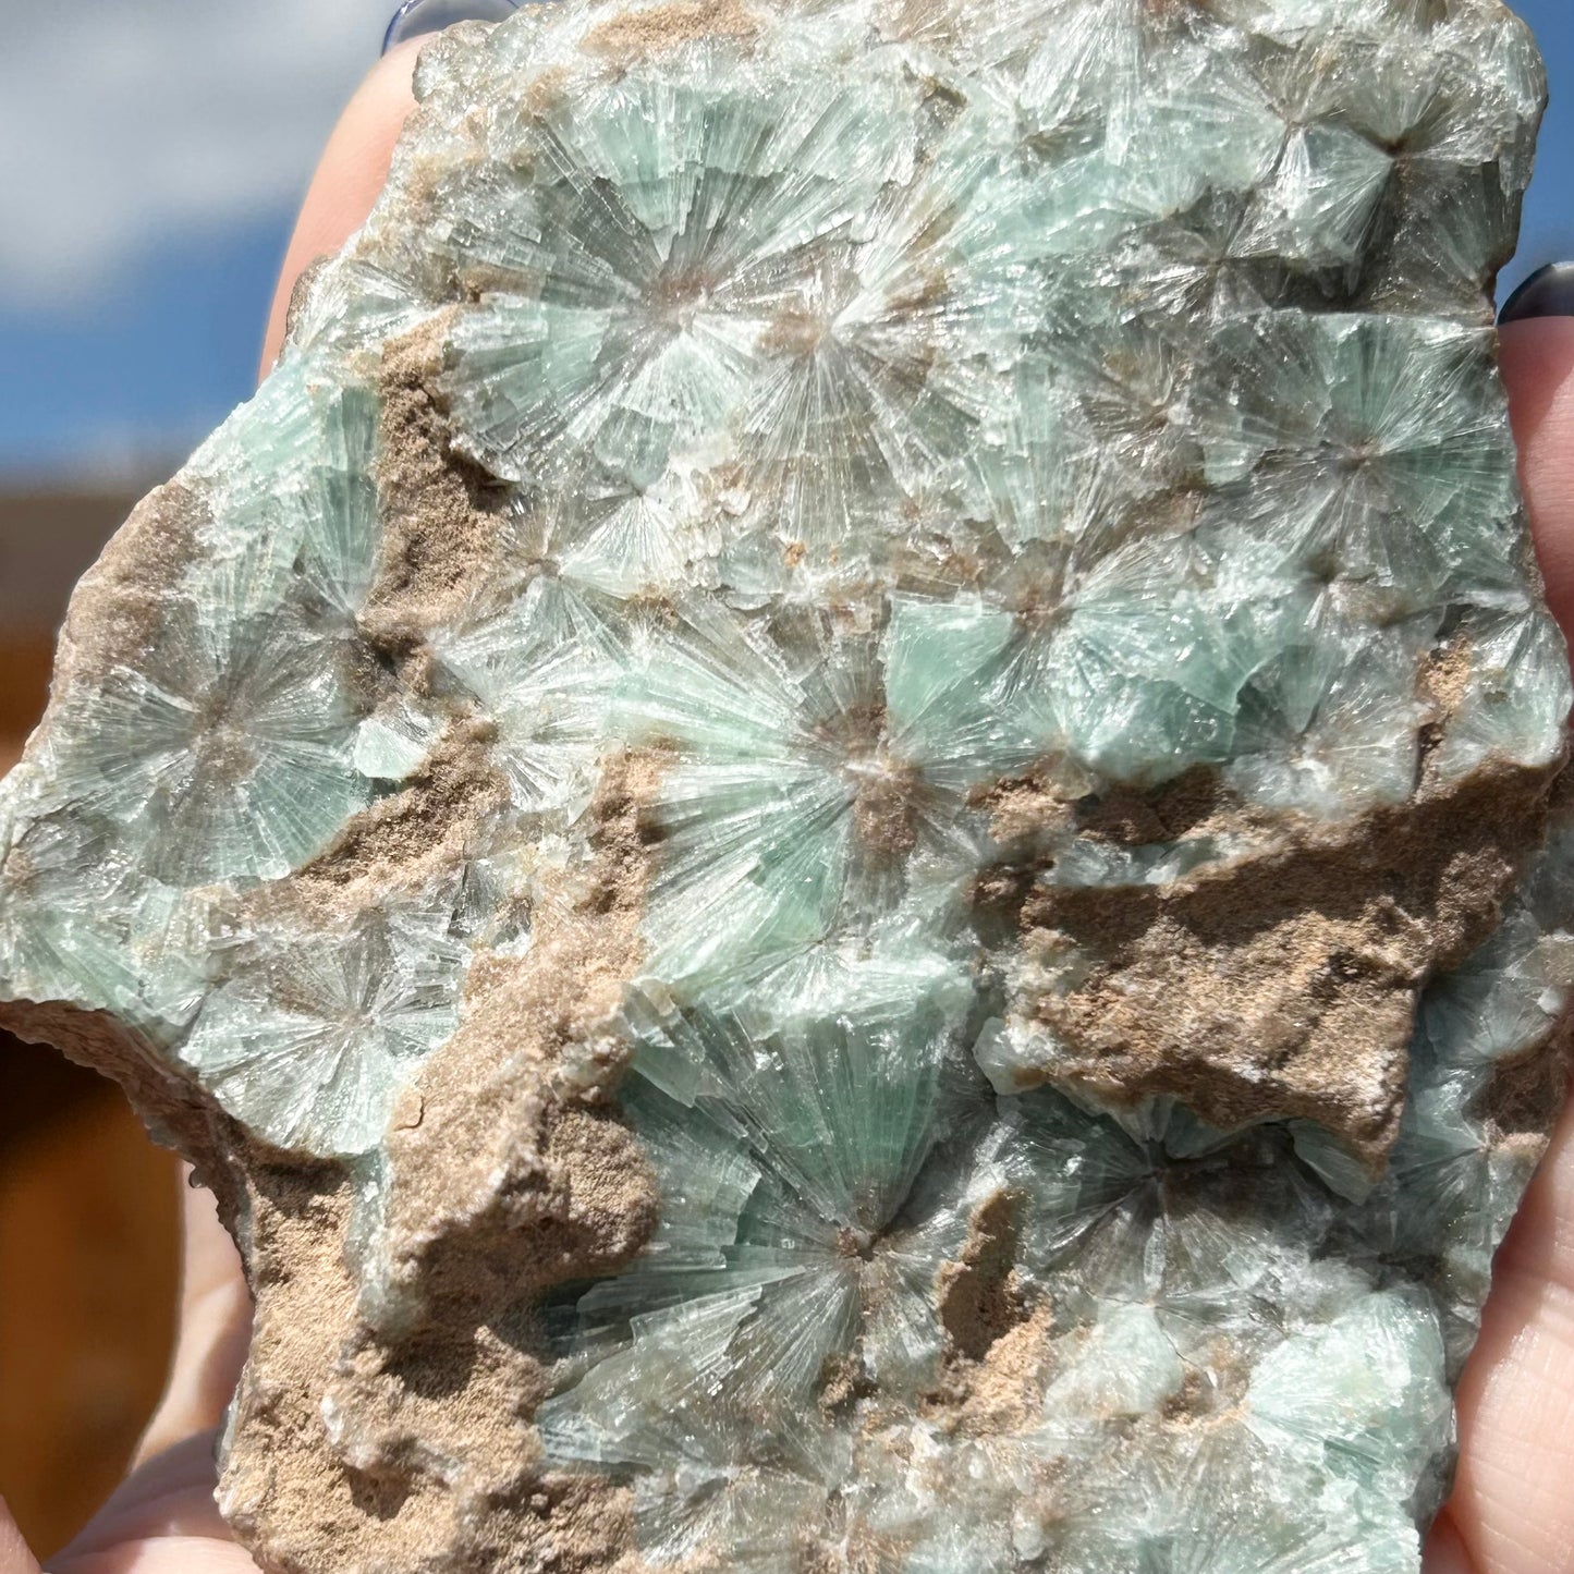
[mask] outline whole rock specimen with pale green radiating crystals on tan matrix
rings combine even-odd
[[[0,1022],[269,1571],[1404,1574],[1561,1096],[1497,0],[563,0],[83,581]]]

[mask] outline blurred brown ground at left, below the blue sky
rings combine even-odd
[[[131,502],[0,496],[0,771],[42,710],[66,592]],[[46,1557],[120,1478],[159,1396],[178,1203],[173,1155],[110,1083],[0,1034],[0,1494]]]

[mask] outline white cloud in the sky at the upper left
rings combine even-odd
[[[293,206],[395,0],[0,0],[0,304]]]

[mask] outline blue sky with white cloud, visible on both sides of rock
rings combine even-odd
[[[0,482],[173,469],[246,397],[294,203],[392,0],[36,0],[0,55]],[[1503,286],[1574,258],[1574,5]]]

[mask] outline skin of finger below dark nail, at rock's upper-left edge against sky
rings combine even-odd
[[[296,279],[320,257],[337,252],[360,228],[382,190],[394,143],[405,116],[416,107],[411,77],[423,42],[428,39],[412,38],[390,49],[360,83],[327,139],[285,252],[263,342],[263,376],[279,359]]]

